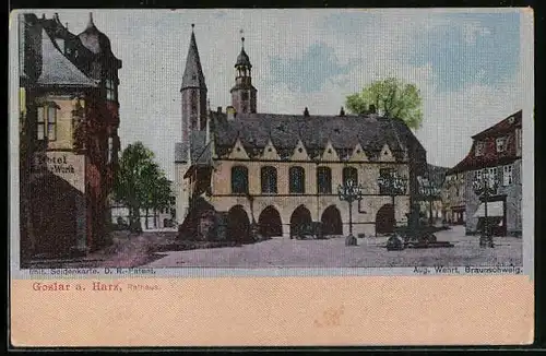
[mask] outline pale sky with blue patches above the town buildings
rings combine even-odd
[[[253,64],[258,111],[337,114],[344,98],[388,75],[415,83],[424,99],[416,131],[430,163],[453,166],[470,137],[524,105],[522,11],[453,13],[376,10],[116,10],[93,11],[121,69],[122,145],[143,141],[174,178],[180,141],[180,83],[191,23],[211,107],[230,104],[240,29]],[[86,10],[59,13],[80,33]]]

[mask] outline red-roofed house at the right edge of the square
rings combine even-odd
[[[522,111],[475,134],[468,155],[450,170],[464,175],[466,234],[478,233],[485,222],[485,202],[476,195],[473,182],[487,173],[489,186],[497,190],[487,199],[487,216],[497,236],[522,234]]]

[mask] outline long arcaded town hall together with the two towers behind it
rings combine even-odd
[[[348,234],[348,204],[337,197],[339,185],[348,180],[364,187],[364,199],[353,206],[355,235],[387,234],[406,224],[416,175],[426,166],[426,152],[407,126],[373,108],[363,116],[343,108],[339,115],[308,108],[304,115],[260,114],[244,45],[242,39],[232,105],[211,110],[191,33],[180,91],[182,142],[175,153],[182,234],[195,232],[198,217],[191,216],[198,205],[215,212],[229,239],[245,239],[251,226],[262,236],[288,237],[313,223],[325,235]],[[393,173],[408,179],[394,199],[378,183]]]

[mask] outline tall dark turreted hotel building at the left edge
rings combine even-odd
[[[90,22],[19,17],[21,252],[85,253],[107,241],[107,197],[119,150],[121,61]]]

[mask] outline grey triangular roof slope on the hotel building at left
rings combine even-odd
[[[95,87],[97,83],[86,76],[59,50],[46,29],[41,32],[41,73],[36,81],[41,85],[60,86],[88,86]]]

